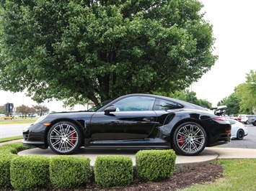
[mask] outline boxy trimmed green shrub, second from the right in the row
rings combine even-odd
[[[100,187],[129,185],[133,181],[133,161],[130,157],[99,156],[94,164],[94,176]]]

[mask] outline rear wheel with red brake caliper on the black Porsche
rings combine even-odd
[[[206,131],[194,122],[181,124],[172,136],[172,146],[175,152],[186,156],[200,154],[205,149],[206,143]]]

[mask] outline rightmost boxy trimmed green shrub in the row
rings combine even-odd
[[[169,178],[175,170],[176,154],[173,150],[144,150],[136,154],[138,177],[146,181]]]

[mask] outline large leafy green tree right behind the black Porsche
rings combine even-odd
[[[6,0],[0,89],[69,105],[182,90],[217,59],[202,7],[196,0]]]

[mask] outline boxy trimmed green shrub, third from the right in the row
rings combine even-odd
[[[91,176],[89,158],[58,156],[50,159],[50,181],[57,187],[74,188],[89,182]]]

